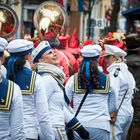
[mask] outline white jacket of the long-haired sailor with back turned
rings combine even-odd
[[[77,75],[77,74],[76,74]],[[66,83],[65,89],[66,94],[71,101],[73,99],[73,109],[74,112],[77,111],[80,102],[84,96],[83,90],[78,89],[77,83],[75,81],[75,75],[71,76]],[[109,81],[106,84],[109,89]],[[77,91],[75,90],[77,89]],[[112,104],[111,111],[116,108],[116,97],[113,91],[104,91],[107,93],[95,93],[88,94],[81,110],[77,116],[77,119],[81,122],[84,127],[99,128],[110,131],[110,116],[109,116],[109,104]],[[112,94],[110,94],[112,93]],[[113,96],[112,96],[113,95]],[[113,98],[112,98],[113,97]],[[112,98],[112,99],[111,99]],[[111,101],[111,100],[112,101]],[[109,100],[111,101],[109,103]]]

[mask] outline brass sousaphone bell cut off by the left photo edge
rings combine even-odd
[[[0,4],[0,37],[10,39],[19,26],[15,11],[6,4]]]

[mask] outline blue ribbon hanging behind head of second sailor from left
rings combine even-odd
[[[15,62],[19,59],[19,57],[9,57],[8,63],[7,63],[7,78],[10,75],[10,73],[13,73],[15,76],[15,71],[14,71],[14,64]]]

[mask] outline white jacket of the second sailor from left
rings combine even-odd
[[[21,73],[18,78],[19,84],[21,82],[28,82],[25,77],[30,73],[31,70],[25,68],[25,73]],[[22,79],[23,78],[23,79]],[[26,138],[38,139],[38,122],[41,128],[41,133],[44,135],[46,140],[54,140],[54,134],[49,118],[48,102],[45,89],[43,86],[44,81],[41,76],[32,73],[32,80],[30,84],[26,85],[24,83],[24,88],[27,90],[22,90],[23,95],[23,107],[24,107],[24,129]],[[29,87],[28,87],[29,86]],[[22,87],[22,85],[20,86]]]

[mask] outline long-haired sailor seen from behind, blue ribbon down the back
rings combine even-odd
[[[65,87],[69,100],[73,100],[75,113],[83,102],[77,119],[89,132],[90,140],[109,140],[109,112],[116,109],[115,85],[98,68],[101,50],[99,45],[90,44],[83,47],[80,69],[70,77]],[[77,134],[75,140],[80,140]]]

